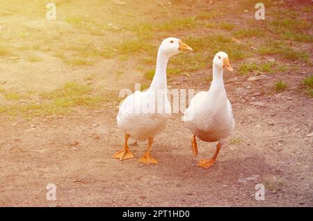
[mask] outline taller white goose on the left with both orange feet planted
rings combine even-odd
[[[158,161],[150,155],[154,136],[165,129],[170,117],[170,102],[167,98],[166,67],[171,56],[191,50],[177,38],[163,40],[157,55],[157,68],[150,88],[145,92],[136,91],[122,102],[116,120],[125,133],[124,148],[112,158],[120,161],[134,158],[127,145],[129,136],[134,140],[148,140],[147,152],[138,162],[149,165]]]

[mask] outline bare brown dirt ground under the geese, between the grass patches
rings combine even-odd
[[[22,1],[16,1],[15,5],[9,2],[5,1],[7,8],[0,11],[4,31],[1,38],[8,40],[17,54],[0,57],[0,86],[8,91],[34,92],[13,101],[0,93],[1,106],[39,102],[40,92],[61,88],[67,81],[88,83],[103,96],[114,99],[108,99],[97,108],[75,106],[65,115],[29,118],[22,113],[10,115],[0,111],[0,206],[313,206],[313,98],[303,88],[303,79],[312,74],[311,65],[301,60],[281,59],[276,54],[247,55],[234,61],[230,58],[234,72],[225,72],[224,81],[236,127],[229,145],[222,147],[216,165],[209,170],[195,165],[200,158],[213,156],[216,144],[199,142],[199,156],[194,158],[191,132],[181,121],[181,114],[173,114],[166,129],[154,139],[152,156],[157,158],[158,165],[146,166],[136,161],[144,154],[147,142],[134,140],[130,143],[135,158],[120,162],[111,158],[122,147],[124,138],[115,120],[118,92],[123,88],[134,90],[134,83],[150,82],[138,70],[141,65],[138,58],[130,56],[124,60],[113,56],[91,65],[67,65],[62,58],[54,56],[53,50],[37,50],[33,45],[25,49],[25,45],[40,41],[36,40],[36,32],[18,39],[13,34],[27,32],[29,26],[31,30],[56,26],[63,30],[61,35],[68,29],[69,35],[74,36],[72,41],[79,41],[80,37],[97,41],[102,36],[67,27],[62,19],[47,25],[45,17],[40,19],[41,11],[37,14],[35,9],[23,10]],[[32,7],[43,6],[45,12],[45,3],[34,2]],[[172,16],[187,16],[207,8],[223,8],[222,3],[227,3],[172,1],[168,5],[167,1],[161,1],[161,6],[157,1],[149,4],[125,1],[126,6],[121,6],[115,1],[104,1],[104,8],[99,8],[100,1],[88,1],[95,3],[93,6],[87,1],[77,1],[74,6],[71,1],[64,2],[58,11],[61,18],[63,11],[72,10],[70,6],[80,8],[77,10],[86,7],[84,13],[95,10],[95,15],[108,8],[101,19],[105,24],[113,21],[120,26],[126,26],[127,21],[134,22],[139,16],[153,21],[160,17],[168,19],[163,6]],[[291,4],[288,7],[293,6],[292,1],[286,2]],[[307,6],[306,1],[301,3],[303,5],[292,10],[301,12]],[[67,4],[69,7],[65,7]],[[241,13],[225,13],[223,21],[236,23],[242,22],[241,16],[253,18],[254,4],[252,1],[242,7],[235,5]],[[248,8],[250,6],[252,8]],[[249,11],[245,13],[247,8]],[[115,12],[116,16],[124,17],[123,22],[115,22]],[[53,32],[57,33],[57,28]],[[214,28],[213,33],[218,31]],[[312,34],[312,29],[309,32]],[[186,38],[207,33],[211,33],[210,28],[187,28],[175,32],[175,36]],[[103,35],[101,41],[132,38],[129,31],[104,29]],[[154,38],[152,42],[157,48],[160,40]],[[62,40],[51,44],[67,51]],[[312,60],[312,42],[293,44],[307,51]],[[36,54],[40,61],[30,62],[29,54]],[[247,60],[277,60],[297,68],[275,74],[239,74],[239,66]],[[212,71],[209,62],[191,74],[171,76],[169,88],[207,90]],[[117,76],[120,69],[122,73]],[[90,75],[93,77],[86,80]],[[287,90],[273,90],[279,80],[287,83]],[[56,201],[46,199],[48,183],[56,185]],[[257,183],[265,186],[265,200],[255,199]]]

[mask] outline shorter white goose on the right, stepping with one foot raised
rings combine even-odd
[[[211,87],[208,91],[196,94],[184,113],[185,124],[193,133],[191,144],[194,156],[198,156],[196,137],[205,142],[218,141],[213,158],[199,161],[197,166],[204,169],[214,165],[225,138],[230,136],[234,129],[232,105],[227,99],[223,83],[223,67],[233,71],[228,55],[220,51],[214,56]]]

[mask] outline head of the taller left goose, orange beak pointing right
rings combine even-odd
[[[159,51],[162,54],[165,54],[169,57],[175,56],[176,54],[181,53],[182,51],[192,51],[193,49],[189,47],[187,44],[179,40],[178,38],[166,38],[161,43],[159,47]]]

